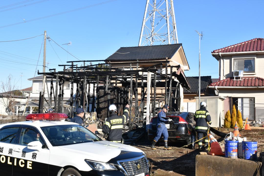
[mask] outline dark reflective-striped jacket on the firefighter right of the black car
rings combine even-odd
[[[211,124],[211,116],[205,107],[200,107],[194,114],[194,120],[196,121],[195,130],[206,132],[208,130],[208,124]]]

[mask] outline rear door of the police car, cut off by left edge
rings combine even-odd
[[[19,126],[8,125],[0,129],[0,172],[12,175],[13,147]]]

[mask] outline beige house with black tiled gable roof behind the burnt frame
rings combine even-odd
[[[130,69],[129,61],[136,62],[138,60],[139,67],[143,67],[143,66],[151,66],[151,65],[159,64],[161,63],[161,61],[166,61],[166,59],[168,59],[169,61],[168,66],[180,66],[178,69],[177,68],[172,69],[172,72],[175,73],[172,75],[173,77],[175,77],[175,81],[173,81],[172,83],[175,86],[172,87],[176,87],[177,83],[180,83],[179,91],[177,91],[178,95],[174,95],[174,96],[178,96],[180,101],[177,102],[177,105],[175,104],[174,108],[178,109],[179,107],[179,109],[181,109],[183,106],[183,87],[185,87],[186,89],[190,89],[190,85],[188,84],[188,81],[184,74],[184,71],[189,70],[190,67],[187,62],[185,53],[183,51],[182,44],[121,47],[114,54],[109,56],[105,60],[105,62],[106,63],[111,62],[112,67],[121,67],[121,68],[124,67],[125,70],[129,70]],[[120,64],[120,63],[124,63],[124,64]],[[132,63],[131,66],[136,67],[136,63]],[[162,70],[160,70],[160,66],[157,66],[157,69],[158,69],[158,73],[165,74],[165,63],[163,64]],[[170,69],[168,69],[167,73],[168,75],[170,74]],[[154,75],[153,73],[151,74]],[[159,80],[157,80],[157,82],[159,82]],[[156,96],[158,97],[157,98],[158,102],[155,103],[155,107],[162,106],[162,102],[164,102],[165,92],[164,92],[164,87],[162,86],[159,88],[157,87]],[[141,96],[141,89],[139,86],[138,89],[139,101],[140,101],[140,96]],[[174,102],[175,101],[173,101],[173,103]]]

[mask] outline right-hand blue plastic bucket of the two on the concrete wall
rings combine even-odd
[[[257,144],[255,141],[242,141],[243,159],[257,160]]]

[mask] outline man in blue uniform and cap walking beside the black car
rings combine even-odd
[[[172,121],[171,119],[165,119],[166,117],[166,112],[169,111],[169,106],[165,104],[162,108],[162,110],[158,113],[158,123],[157,123],[157,135],[152,141],[151,148],[153,150],[156,150],[155,144],[161,138],[161,135],[164,137],[164,150],[170,150],[172,149],[171,147],[168,147],[168,130],[167,127],[165,126],[165,122]]]

